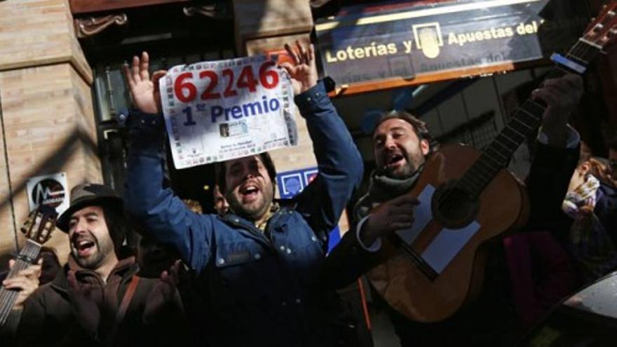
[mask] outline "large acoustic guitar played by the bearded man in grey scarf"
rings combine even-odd
[[[557,66],[550,77],[583,74],[617,36],[616,7],[617,0],[610,1],[567,55],[552,56]],[[484,151],[449,145],[428,158],[409,192],[421,201],[414,225],[383,240],[381,263],[367,273],[395,310],[416,322],[438,322],[477,297],[486,259],[482,245],[527,221],[527,193],[506,165],[537,131],[544,111],[529,98]]]

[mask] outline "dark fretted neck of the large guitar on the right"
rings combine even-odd
[[[593,43],[578,39],[566,57],[586,67],[598,55],[599,50],[599,47]],[[557,66],[548,74],[547,79],[563,76],[566,73],[569,71]],[[545,105],[542,102],[528,98],[517,109],[515,115],[495,140],[482,151],[480,158],[459,181],[460,186],[465,187],[472,198],[480,196],[497,173],[506,168],[514,151],[527,137],[537,133],[544,111]]]

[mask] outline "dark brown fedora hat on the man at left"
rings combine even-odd
[[[88,206],[111,206],[122,210],[122,198],[113,189],[103,184],[85,183],[71,189],[71,204],[58,217],[56,226],[65,233],[69,232],[71,216]]]

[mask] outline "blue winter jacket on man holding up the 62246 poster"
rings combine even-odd
[[[198,273],[214,346],[332,346],[332,290],[318,278],[328,232],[362,179],[362,159],[323,83],[295,97],[319,174],[262,233],[238,215],[197,215],[163,189],[163,118],[132,114],[125,203]]]

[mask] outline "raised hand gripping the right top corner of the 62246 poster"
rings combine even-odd
[[[307,49],[300,41],[296,41],[294,48],[285,43],[285,50],[294,60],[294,64],[283,62],[283,64],[280,64],[280,67],[283,67],[292,78],[294,95],[304,93],[306,90],[313,88],[318,80],[315,48],[313,48],[313,45],[311,44]]]

